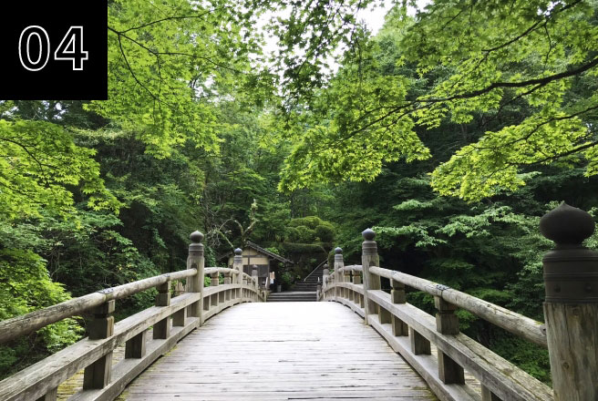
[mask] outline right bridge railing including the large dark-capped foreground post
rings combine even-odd
[[[598,252],[582,246],[593,232],[589,214],[562,204],[541,220],[557,243],[543,259],[546,324],[445,285],[380,267],[375,232],[363,232],[362,264],[345,266],[335,250],[335,270],[325,274],[319,299],[353,309],[385,337],[441,400],[598,400]],[[381,277],[392,290],[381,290]],[[362,283],[363,279],[363,283]],[[405,288],[434,297],[436,316],[407,303]],[[455,311],[465,309],[512,334],[549,349],[553,389],[459,333]],[[432,355],[435,344],[437,355]],[[481,385],[466,384],[464,371]]]

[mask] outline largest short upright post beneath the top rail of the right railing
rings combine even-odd
[[[459,334],[459,318],[455,314],[457,306],[446,302],[439,296],[434,297],[434,304],[438,309],[436,331],[447,335]],[[438,377],[445,385],[465,384],[463,368],[440,350],[438,350]]]

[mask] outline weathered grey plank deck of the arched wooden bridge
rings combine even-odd
[[[119,400],[436,400],[338,303],[242,303],[211,318]]]

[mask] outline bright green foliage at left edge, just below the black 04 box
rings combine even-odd
[[[73,194],[66,186],[77,186],[91,209],[119,209],[99,178],[95,150],[78,147],[56,124],[3,119],[8,116],[0,113],[0,219],[37,217],[42,210],[71,213]]]

